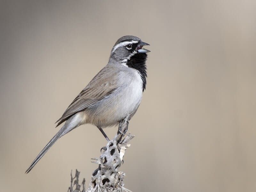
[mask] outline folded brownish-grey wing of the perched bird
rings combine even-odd
[[[106,66],[91,80],[91,82],[77,95],[66,111],[57,121],[57,126],[66,121],[77,112],[83,111],[97,101],[113,93],[117,88],[117,71]],[[56,122],[56,123],[57,123]],[[56,127],[57,127],[56,126]]]

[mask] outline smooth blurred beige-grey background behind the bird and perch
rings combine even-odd
[[[256,191],[256,2],[1,1],[0,186],[86,186],[106,140],[83,125],[58,140],[55,121],[134,35],[148,47],[148,84],[129,124],[120,171],[136,191]],[[117,128],[105,132],[113,138]]]

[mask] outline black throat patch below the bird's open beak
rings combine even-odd
[[[127,61],[126,65],[130,68],[134,68],[139,71],[142,79],[142,91],[146,89],[146,77],[147,77],[147,66],[146,66],[147,54],[137,53],[133,55],[130,60]]]

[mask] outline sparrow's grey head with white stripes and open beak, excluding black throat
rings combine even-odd
[[[149,44],[141,41],[141,39],[136,36],[123,36],[116,41],[110,57],[124,65],[129,65],[129,62],[136,58],[139,60],[144,58],[146,61],[146,53],[150,51],[143,49],[144,45]]]

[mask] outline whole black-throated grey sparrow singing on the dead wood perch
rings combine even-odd
[[[143,46],[149,45],[136,36],[122,36],[114,44],[108,64],[92,78],[89,84],[77,95],[66,111],[56,122],[56,127],[65,124],[36,156],[25,173],[63,135],[82,124],[95,125],[109,141],[102,130],[116,126],[127,116],[136,113],[142,93],[146,88],[147,53]]]

